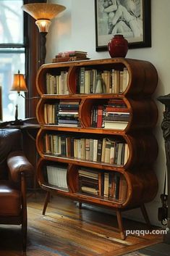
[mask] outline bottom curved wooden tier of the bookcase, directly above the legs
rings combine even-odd
[[[133,171],[124,171],[120,170],[122,176],[124,176],[127,182],[127,197],[123,201],[119,199],[106,199],[103,196],[96,196],[90,194],[82,194],[79,192],[79,178],[78,178],[78,168],[79,165],[68,165],[67,169],[67,185],[69,191],[64,191],[63,189],[56,189],[55,186],[50,186],[47,181],[44,179],[43,168],[46,165],[49,165],[51,162],[49,160],[40,159],[38,162],[38,183],[43,189],[47,191],[55,191],[57,194],[62,196],[72,197],[82,202],[92,202],[96,205],[107,205],[109,207],[133,207],[142,202],[150,202],[155,196],[158,189],[158,182],[156,179],[156,174],[150,168],[145,168],[144,170],[135,171],[135,176]],[[58,164],[59,162],[56,162]],[[95,169],[96,172],[100,170]],[[103,171],[103,170],[102,170]],[[103,172],[104,173],[104,172]],[[112,171],[114,174],[115,171]],[[72,179],[74,177],[74,179]],[[151,178],[151,180],[150,180]],[[151,189],[150,189],[151,188]],[[148,191],[148,192],[146,192]]]

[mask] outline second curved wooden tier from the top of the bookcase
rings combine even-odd
[[[60,99],[63,98],[60,98],[59,96],[53,97],[52,99],[49,97],[45,97],[38,102],[38,123],[40,123],[41,125],[47,125],[44,121],[44,104],[54,104],[56,102],[59,103]],[[82,128],[93,128],[91,127],[91,112],[93,106],[107,104],[110,98],[108,98],[108,96],[105,96],[103,98],[93,97],[93,99],[91,99],[91,97],[86,97],[84,99],[76,97],[76,99],[80,100],[79,120]],[[152,99],[143,99],[142,102],[139,99],[123,99],[129,110],[129,122],[127,124],[127,127],[121,131],[128,132],[139,128],[153,128],[156,125],[158,119],[158,110],[156,107],[156,103],[153,102]]]

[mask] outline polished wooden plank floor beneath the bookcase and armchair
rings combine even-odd
[[[116,218],[82,207],[61,197],[53,197],[46,215],[41,214],[45,194],[28,199],[27,256],[116,256],[134,252],[162,241],[160,235],[127,236],[120,239]],[[130,230],[147,226],[124,219]],[[154,228],[155,229],[155,228]],[[0,256],[22,254],[20,227],[0,226]]]

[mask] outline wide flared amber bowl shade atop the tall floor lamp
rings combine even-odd
[[[24,4],[22,9],[32,16],[35,20],[52,20],[66,7],[60,4],[34,3]]]

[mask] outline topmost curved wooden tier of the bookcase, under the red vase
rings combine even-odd
[[[158,75],[156,68],[147,61],[139,59],[95,59],[81,62],[65,62],[65,63],[52,63],[42,65],[38,70],[36,84],[38,93],[42,96],[46,94],[46,73],[59,73],[61,70],[68,70],[67,85],[70,94],[76,93],[76,75],[80,67],[97,70],[123,70],[127,68],[129,73],[129,83],[127,89],[122,93],[124,95],[137,95],[140,98],[151,95],[156,89],[158,82]]]

